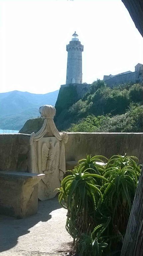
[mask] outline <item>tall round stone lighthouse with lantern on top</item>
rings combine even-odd
[[[67,45],[67,77],[66,84],[82,84],[82,52],[83,45],[78,40],[76,31]]]

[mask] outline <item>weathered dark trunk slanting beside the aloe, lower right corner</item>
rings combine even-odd
[[[136,189],[121,256],[143,256],[143,168]]]

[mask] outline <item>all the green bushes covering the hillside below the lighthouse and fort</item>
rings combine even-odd
[[[57,120],[58,129],[69,132],[143,132],[143,87],[110,88],[97,80]]]

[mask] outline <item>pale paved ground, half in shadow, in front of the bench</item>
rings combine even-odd
[[[0,216],[0,256],[68,255],[72,238],[57,197],[39,201],[38,213],[26,219]]]

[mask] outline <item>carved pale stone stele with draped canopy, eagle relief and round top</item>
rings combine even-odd
[[[39,112],[45,120],[42,128],[30,137],[31,172],[45,174],[39,182],[38,197],[46,200],[57,194],[54,190],[61,186],[66,172],[64,144],[68,141],[68,135],[65,132],[60,134],[55,126],[55,107],[43,105]]]

